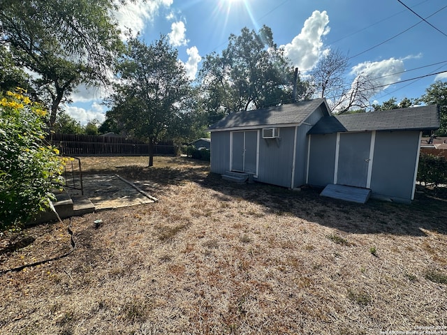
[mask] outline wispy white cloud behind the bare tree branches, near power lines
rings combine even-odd
[[[374,86],[383,86],[381,89],[386,89],[389,84],[398,82],[405,70],[404,61],[402,59],[384,59],[383,61],[365,61],[353,66],[351,75],[362,74],[374,79],[376,84]]]

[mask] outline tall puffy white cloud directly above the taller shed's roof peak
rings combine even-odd
[[[323,12],[315,10],[305,21],[300,34],[295,36],[291,43],[281,45],[294,67],[298,67],[300,71],[307,71],[315,66],[321,53],[324,52],[321,38],[330,31],[328,23],[328,13],[325,10]]]

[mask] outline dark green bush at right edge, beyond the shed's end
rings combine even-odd
[[[420,154],[418,166],[418,181],[425,185],[447,184],[447,159],[443,156]]]

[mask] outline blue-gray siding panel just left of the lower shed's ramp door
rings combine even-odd
[[[307,181],[309,185],[324,187],[334,182],[336,144],[337,134],[312,135]]]

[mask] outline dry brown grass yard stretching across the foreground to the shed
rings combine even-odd
[[[69,251],[69,220],[3,234],[1,334],[447,334],[445,190],[360,205],[154,163],[82,158],[159,202],[73,218],[64,258],[5,271]]]

